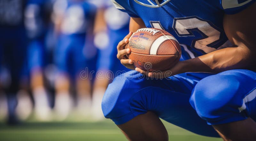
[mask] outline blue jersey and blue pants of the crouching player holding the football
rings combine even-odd
[[[186,60],[230,47],[222,25],[224,14],[238,13],[255,0],[172,0],[160,8],[148,8],[133,0],[112,2],[131,17],[141,18],[147,27],[171,33],[182,44],[181,60]],[[219,137],[211,125],[248,117],[256,121],[255,79],[256,73],[250,70],[183,73],[161,80],[129,71],[108,86],[102,110],[116,124],[153,111],[194,133]]]

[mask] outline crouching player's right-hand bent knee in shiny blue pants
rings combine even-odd
[[[197,114],[205,120],[214,120],[220,113],[233,110],[231,101],[239,89],[240,83],[232,75],[213,75],[202,79],[195,86],[190,104]]]

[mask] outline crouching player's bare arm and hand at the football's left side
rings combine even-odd
[[[133,32],[136,32],[140,28],[145,28],[145,24],[140,18],[132,18],[130,19],[129,26],[129,34],[124,37],[122,41],[120,41],[117,45],[117,55],[116,57],[121,61],[121,63],[127,67],[128,69],[134,70],[134,65],[132,64],[132,60],[126,57],[127,54],[131,52],[130,48],[125,49],[125,46],[129,42],[129,38],[132,36]]]

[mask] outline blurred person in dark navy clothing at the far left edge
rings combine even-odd
[[[0,1],[0,67],[2,88],[7,94],[8,122],[16,123],[16,94],[22,85],[26,66],[26,34],[23,25],[25,0]]]

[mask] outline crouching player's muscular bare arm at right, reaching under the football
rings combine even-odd
[[[256,70],[255,13],[256,3],[237,14],[225,15],[224,30],[234,46],[181,61],[170,70],[172,75],[184,72],[218,73],[231,69]],[[159,77],[160,74],[149,73],[148,75]],[[164,75],[162,74],[162,76]]]

